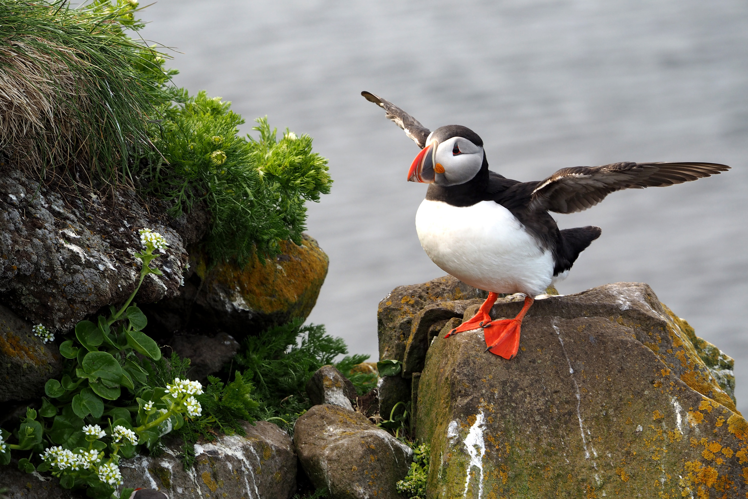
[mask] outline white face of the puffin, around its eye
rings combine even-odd
[[[467,138],[450,138],[436,149],[435,172],[439,170],[437,164],[444,168],[444,173],[435,173],[434,183],[437,186],[457,186],[468,182],[478,173],[483,165],[483,148]]]

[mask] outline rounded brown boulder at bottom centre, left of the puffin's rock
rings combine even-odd
[[[413,452],[358,412],[315,405],[296,420],[299,462],[331,499],[402,499],[395,483],[408,473]]]

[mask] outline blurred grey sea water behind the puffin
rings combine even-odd
[[[630,190],[560,227],[595,224],[561,293],[649,283],[696,333],[735,358],[748,409],[748,4],[742,0],[160,0],[144,36],[174,47],[175,81],[308,133],[331,195],[308,232],[330,256],[310,321],[377,357],[377,304],[444,275],[405,182],[418,149],[359,94],[425,126],[462,124],[491,169],[540,180],[619,161],[704,161],[726,174]],[[250,132],[247,123],[244,132]]]

